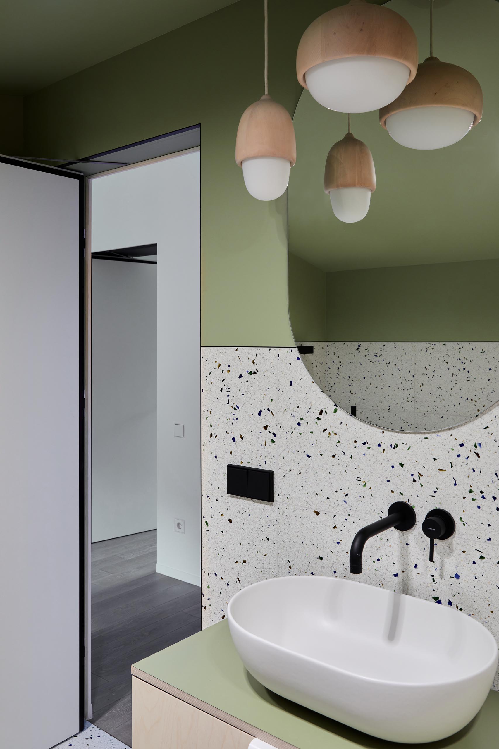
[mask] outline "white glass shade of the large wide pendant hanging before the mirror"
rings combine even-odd
[[[335,112],[372,112],[393,102],[407,85],[411,71],[403,62],[384,57],[345,57],[309,68],[306,86],[312,97]]]

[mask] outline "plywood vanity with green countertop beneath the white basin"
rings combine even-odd
[[[247,673],[227,622],[204,629],[132,666],[133,749],[396,749],[287,703]],[[496,749],[499,692],[448,749]],[[414,745],[411,745],[414,746]],[[432,749],[435,744],[420,745]]]

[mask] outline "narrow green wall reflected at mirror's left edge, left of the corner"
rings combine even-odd
[[[289,253],[289,318],[295,341],[325,341],[327,273]]]

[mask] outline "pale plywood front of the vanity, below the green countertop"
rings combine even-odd
[[[133,749],[248,749],[253,736],[132,677]]]

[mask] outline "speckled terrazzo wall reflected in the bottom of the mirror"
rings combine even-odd
[[[347,412],[386,429],[436,431],[499,399],[499,343],[306,342],[312,379]]]

